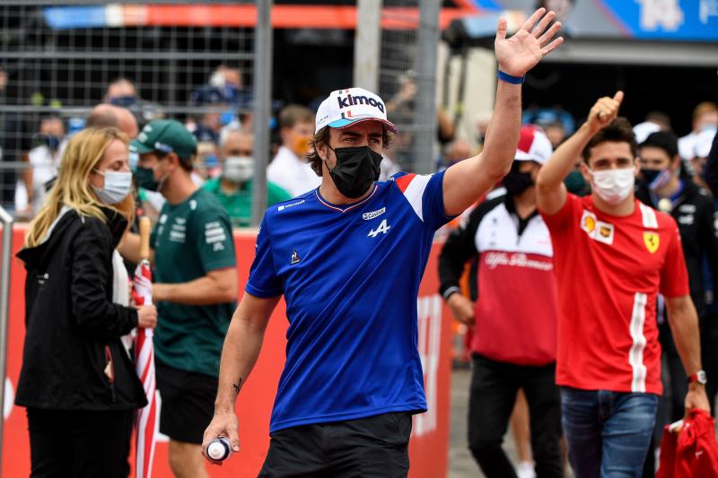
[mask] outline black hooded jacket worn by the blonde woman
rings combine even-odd
[[[25,248],[25,345],[15,404],[51,410],[130,410],[146,404],[121,335],[135,309],[112,303],[112,251],[127,225],[70,210],[48,240]],[[114,382],[105,372],[108,358]]]

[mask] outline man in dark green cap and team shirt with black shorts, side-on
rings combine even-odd
[[[215,196],[190,177],[197,141],[175,120],[144,126],[130,143],[139,155],[139,187],[167,202],[154,227],[153,300],[160,431],[170,441],[178,477],[205,477],[202,435],[214,412],[219,358],[237,297],[237,270],[229,216]],[[120,253],[138,259],[139,238],[127,234]]]

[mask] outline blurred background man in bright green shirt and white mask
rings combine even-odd
[[[252,175],[254,139],[240,129],[223,133],[220,143],[222,174],[202,187],[215,195],[230,214],[232,226],[248,227],[252,215]],[[267,205],[292,199],[284,189],[267,182]]]

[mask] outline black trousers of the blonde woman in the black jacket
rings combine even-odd
[[[27,414],[31,478],[127,478],[134,411]]]

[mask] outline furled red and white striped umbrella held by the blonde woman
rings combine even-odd
[[[152,271],[150,262],[141,261],[135,270],[133,295],[138,306],[152,304]],[[157,436],[157,385],[154,380],[153,329],[137,328],[135,339],[135,369],[142,381],[147,404],[136,416],[136,478],[151,478],[154,442]]]

